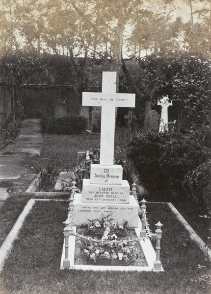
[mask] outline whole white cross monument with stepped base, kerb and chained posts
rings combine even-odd
[[[163,269],[159,261],[159,238],[161,238],[161,224],[158,223],[158,251],[156,254],[149,239],[151,233],[149,230],[145,230],[145,226],[148,228],[145,208],[142,207],[143,215],[141,222],[138,216],[139,204],[137,203],[135,193],[132,195],[130,194],[130,185],[128,181],[122,179],[123,168],[121,165],[113,165],[115,107],[134,107],[135,95],[116,93],[116,73],[103,72],[102,93],[83,93],[82,105],[102,107],[100,164],[91,164],[90,179],[83,179],[82,193],[75,193],[72,187],[73,193],[70,198],[68,218],[64,222],[65,240],[61,259],[61,269],[130,269],[162,271]],[[109,266],[74,264],[76,236],[82,239],[85,238],[87,242],[100,242],[103,247],[106,246],[106,243],[108,243],[107,245],[113,248],[115,256],[118,256],[118,245],[116,247],[112,240],[109,242],[102,239],[96,240],[91,237],[79,236],[77,233],[77,226],[79,227],[88,220],[100,220],[102,219],[102,215],[112,215],[112,220],[115,223],[120,225],[127,223],[129,228],[134,229],[136,235],[133,238],[133,241],[139,242],[138,246],[141,247],[141,250],[145,255],[148,267],[121,267],[118,263],[116,266],[112,265],[116,264],[118,258],[116,261],[115,258],[113,260],[111,259]],[[117,244],[120,244],[121,242],[123,241],[116,241]],[[129,241],[125,241],[125,243],[128,242]],[[103,252],[105,255],[108,253],[108,251],[105,251],[105,248],[102,249],[102,247],[101,249],[96,249],[96,252],[100,252],[101,250],[104,250]],[[120,253],[123,254],[123,252]],[[122,257],[121,254],[120,257]]]

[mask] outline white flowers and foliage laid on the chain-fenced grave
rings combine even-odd
[[[127,238],[127,221],[123,225],[112,222],[111,215],[102,216],[100,219],[88,221],[85,227],[86,236],[92,236],[83,240],[83,252],[88,262],[96,264],[97,259],[119,260],[130,264],[137,259],[138,253],[135,242]],[[101,240],[101,242],[95,242]],[[121,242],[119,242],[121,241]]]

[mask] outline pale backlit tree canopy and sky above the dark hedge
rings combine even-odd
[[[0,27],[1,54],[72,50],[74,56],[115,59],[121,50],[128,56],[184,50],[209,58],[211,1],[0,0]]]

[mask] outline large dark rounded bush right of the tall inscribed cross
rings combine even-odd
[[[187,172],[205,163],[210,152],[195,138],[180,133],[147,132],[132,135],[127,145],[128,157],[144,186],[161,199],[182,196]]]

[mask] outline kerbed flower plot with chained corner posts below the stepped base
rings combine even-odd
[[[134,197],[134,195],[133,191],[132,196]],[[162,224],[160,222],[156,224],[156,235],[151,233],[146,218],[146,201],[144,199],[141,206],[142,220],[138,218],[137,227],[128,229],[126,226],[127,229],[123,230],[123,225],[119,225],[118,222],[109,223],[105,221],[107,227],[104,227],[102,230],[104,232],[103,236],[98,230],[99,224],[102,223],[102,218],[89,221],[89,226],[82,225],[80,227],[73,225],[74,198],[71,197],[70,201],[68,219],[64,222],[65,240],[60,269],[164,271],[159,261],[160,239],[162,235],[160,228]],[[88,208],[84,209],[84,212],[86,210]],[[110,217],[112,218],[113,215],[111,214]],[[96,226],[94,223],[96,223]],[[116,229],[112,230],[113,226]],[[98,234],[99,236],[97,236]],[[150,241],[152,236],[157,238],[156,252]],[[113,238],[113,240],[109,240],[110,238]]]

